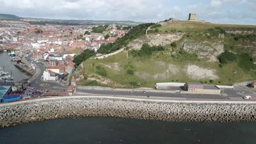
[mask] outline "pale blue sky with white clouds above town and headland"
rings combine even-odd
[[[0,13],[69,20],[158,22],[174,17],[256,25],[256,0],[0,0]]]

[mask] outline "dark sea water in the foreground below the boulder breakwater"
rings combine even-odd
[[[256,143],[256,123],[63,118],[0,129],[0,143]]]

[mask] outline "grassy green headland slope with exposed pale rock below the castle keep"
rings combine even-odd
[[[151,27],[148,29],[148,27]],[[147,31],[148,29],[148,31]],[[147,35],[146,35],[147,31]],[[133,28],[100,53],[104,59],[76,57],[78,85],[154,87],[156,82],[232,85],[256,78],[256,26],[165,21]],[[91,53],[89,53],[91,55]],[[86,59],[86,61],[84,61]],[[84,61],[84,62],[82,62]],[[98,81],[98,82],[97,82]]]

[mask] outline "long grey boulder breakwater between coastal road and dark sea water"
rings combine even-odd
[[[253,122],[256,102],[174,101],[73,96],[0,105],[0,127],[66,117],[121,117],[171,122]]]

